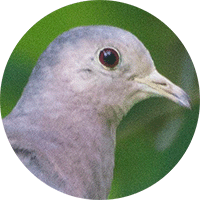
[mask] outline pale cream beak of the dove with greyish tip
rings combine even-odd
[[[190,98],[187,93],[159,74],[156,70],[144,78],[135,77],[134,80],[138,83],[144,84],[143,88],[146,92],[166,97],[181,106],[191,108]]]

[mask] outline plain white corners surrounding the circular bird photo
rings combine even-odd
[[[121,1],[121,0],[120,0]],[[0,75],[2,78],[4,68],[15,45],[37,21],[58,8],[67,4],[76,3],[74,0],[7,0],[1,2],[0,8]],[[200,77],[200,30],[199,30],[199,2],[181,0],[123,0],[121,2],[132,4],[152,13],[162,20],[185,45],[189,52],[198,77]],[[48,199],[66,200],[75,199],[59,193],[38,181],[13,153],[0,123],[0,184],[1,199]],[[200,199],[200,125],[196,129],[194,138],[178,165],[161,181],[152,187],[125,199],[143,200],[169,200]],[[15,166],[15,171],[13,171]]]

